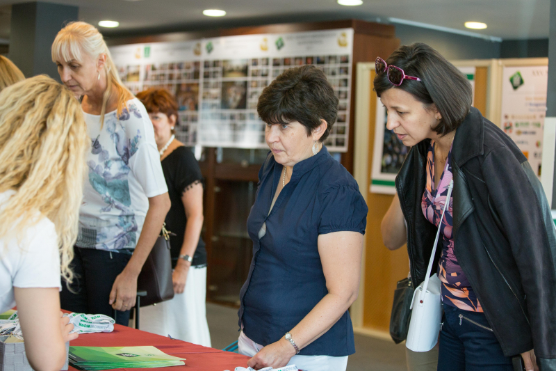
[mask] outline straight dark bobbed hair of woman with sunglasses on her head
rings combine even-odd
[[[423,102],[427,109],[434,104],[442,116],[439,125],[434,128],[434,132],[440,135],[452,132],[464,121],[473,100],[471,84],[439,52],[423,42],[415,42],[398,47],[386,59],[386,64],[395,65],[421,81],[405,79],[400,86],[394,86],[386,73],[379,73],[374,81],[378,97],[388,89],[398,88]]]

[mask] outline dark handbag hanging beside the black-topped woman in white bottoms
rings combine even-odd
[[[170,256],[171,232],[166,230],[165,225],[137,278],[137,291],[147,292],[145,297],[141,297],[140,306],[150,306],[174,297]]]

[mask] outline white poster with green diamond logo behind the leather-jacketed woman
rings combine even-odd
[[[502,72],[502,129],[541,176],[548,66],[505,66]]]

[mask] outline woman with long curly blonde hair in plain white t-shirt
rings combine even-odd
[[[87,147],[79,102],[53,79],[0,93],[0,313],[17,304],[33,370],[60,370],[77,338],[58,291],[60,271],[73,277]]]

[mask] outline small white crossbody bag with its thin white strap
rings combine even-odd
[[[439,242],[440,229],[444,213],[450,203],[452,196],[452,188],[454,180],[450,181],[448,186],[448,196],[444,203],[444,210],[439,222],[439,230],[436,232],[434,246],[432,246],[432,254],[427,268],[427,275],[419,287],[416,288],[411,301],[411,320],[409,322],[409,331],[407,331],[407,340],[405,346],[414,352],[428,352],[436,345],[439,338],[440,322],[442,321],[442,303],[440,287],[441,282],[438,275],[430,277],[434,255],[436,253],[436,244]]]

